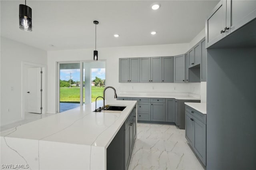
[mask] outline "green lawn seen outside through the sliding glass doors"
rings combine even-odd
[[[92,86],[92,102],[95,101],[96,97],[103,96],[104,87],[94,87]],[[102,100],[102,98],[98,98]],[[80,102],[80,87],[72,88],[60,88],[60,102]]]

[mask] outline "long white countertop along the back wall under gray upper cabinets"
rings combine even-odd
[[[178,100],[200,100],[199,97],[189,95],[160,95],[160,94],[120,94],[118,97],[148,97],[148,98],[166,98],[166,99],[178,99]]]

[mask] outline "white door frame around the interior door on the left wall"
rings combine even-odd
[[[21,117],[22,119],[25,118],[25,103],[26,103],[26,83],[25,81],[27,81],[26,77],[27,75],[25,75],[26,73],[26,69],[28,69],[29,67],[41,67],[42,68],[42,114],[46,113],[46,75],[47,75],[47,67],[46,65],[43,64],[38,64],[38,63],[31,63],[31,62],[27,62],[27,61],[22,61],[21,62],[21,69],[22,69],[22,74],[21,74],[21,102],[22,102],[22,106],[21,106]]]

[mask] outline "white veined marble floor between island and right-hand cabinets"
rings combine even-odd
[[[205,170],[175,125],[137,124],[128,170]]]

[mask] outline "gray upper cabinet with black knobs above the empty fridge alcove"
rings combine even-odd
[[[206,20],[206,48],[255,18],[255,0],[221,0]]]

